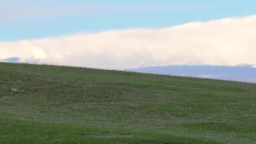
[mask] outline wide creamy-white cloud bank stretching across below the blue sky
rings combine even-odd
[[[0,42],[0,59],[108,69],[256,64],[256,15],[165,29],[113,30]]]

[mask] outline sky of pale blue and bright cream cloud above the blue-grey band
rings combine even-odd
[[[255,0],[0,0],[0,61],[103,69],[249,64]]]

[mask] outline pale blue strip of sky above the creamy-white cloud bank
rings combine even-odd
[[[250,16],[255,5],[255,0],[0,0],[0,41]]]

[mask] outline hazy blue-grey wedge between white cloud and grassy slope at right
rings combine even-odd
[[[213,65],[169,65],[125,69],[125,71],[153,73],[160,75],[178,75],[221,80],[234,80],[256,83],[256,68],[252,65],[213,66]]]

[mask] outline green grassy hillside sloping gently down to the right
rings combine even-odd
[[[256,84],[0,63],[0,143],[255,144]]]

